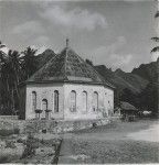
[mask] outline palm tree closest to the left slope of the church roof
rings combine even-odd
[[[35,53],[38,50],[33,50],[30,46],[22,52],[22,70],[24,73],[23,80],[28,79],[36,70],[36,58]]]

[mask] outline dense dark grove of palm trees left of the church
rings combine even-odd
[[[0,42],[0,47],[3,47]],[[19,84],[36,69],[35,52],[31,47],[22,53],[0,51],[0,114],[17,114],[20,102]]]

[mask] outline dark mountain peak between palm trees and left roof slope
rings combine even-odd
[[[56,54],[52,50],[45,50],[42,54],[36,56],[38,69],[46,64]]]

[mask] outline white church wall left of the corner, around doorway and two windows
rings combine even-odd
[[[59,91],[59,112],[54,112],[54,90]],[[32,91],[36,92],[36,109],[42,109],[42,100],[47,100],[47,109],[52,110],[50,117],[52,119],[63,118],[64,91],[62,84],[35,84],[26,85],[26,103],[25,119],[35,118],[35,112],[32,109]]]

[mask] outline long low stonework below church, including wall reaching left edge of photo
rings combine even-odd
[[[55,121],[55,120],[0,120],[1,130],[19,129],[20,133],[63,133],[89,129],[109,123],[108,119]]]

